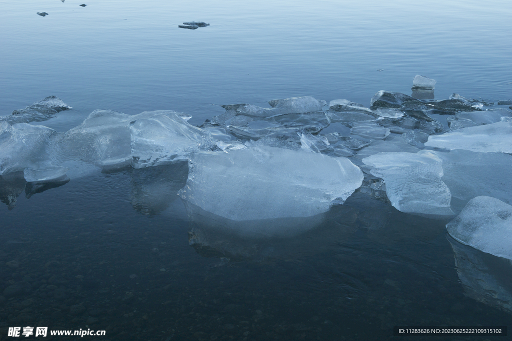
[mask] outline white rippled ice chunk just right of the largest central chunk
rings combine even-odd
[[[386,183],[393,207],[406,213],[452,215],[451,193],[441,180],[442,160],[429,151],[378,153],[362,159]]]

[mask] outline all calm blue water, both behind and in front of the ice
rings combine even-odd
[[[512,98],[508,1],[79,4],[0,1],[0,115],[55,95],[73,109],[40,124],[59,131],[101,108],[201,124],[224,111],[212,104],[369,105],[381,89],[410,95],[417,74],[437,99]],[[191,20],[210,26],[178,28]],[[42,193],[2,179],[16,202],[0,208],[0,340],[15,326],[162,341],[512,327],[510,262],[455,242],[446,221],[355,193],[309,231],[254,239],[187,211],[186,177],[186,165],[97,171]]]

